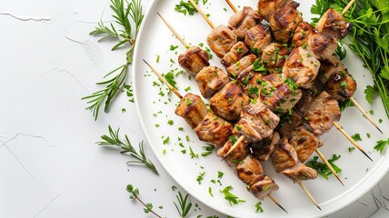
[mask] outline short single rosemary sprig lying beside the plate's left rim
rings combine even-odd
[[[130,143],[130,140],[128,139],[128,136],[125,134],[125,140],[122,141],[119,138],[119,130],[117,129],[114,131],[112,127],[108,126],[109,135],[102,135],[101,138],[103,141],[98,142],[98,145],[115,145],[122,149],[120,152],[121,154],[129,153],[131,156],[135,158],[134,161],[128,161],[127,164],[132,163],[141,163],[145,164],[150,170],[152,170],[154,173],[158,174],[158,171],[155,168],[154,163],[152,163],[149,159],[145,157],[145,150],[144,150],[144,142],[142,141],[139,143],[139,154],[136,152],[133,145]]]

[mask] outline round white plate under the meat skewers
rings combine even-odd
[[[199,45],[200,43],[205,45],[206,35],[210,32],[210,27],[206,25],[200,15],[192,16],[176,13],[175,4],[177,2],[179,1],[154,1],[145,15],[144,25],[135,50],[136,62],[133,68],[135,104],[146,138],[159,161],[165,166],[166,171],[172,175],[175,181],[181,184],[188,193],[215,210],[234,217],[254,217],[258,215],[264,217],[284,216],[285,213],[269,199],[265,199],[262,204],[264,213],[255,213],[254,205],[258,200],[245,190],[244,183],[240,182],[234,175],[234,169],[229,168],[226,163],[221,163],[220,158],[216,157],[215,154],[206,157],[199,155],[199,158],[192,159],[189,155],[189,146],[192,147],[195,154],[201,154],[204,152],[203,146],[206,146],[206,144],[197,139],[194,131],[185,123],[184,119],[175,115],[175,105],[178,102],[178,98],[173,94],[160,96],[158,94],[160,87],[153,86],[153,82],[156,82],[157,78],[150,73],[142,59],[153,64],[161,73],[166,73],[170,69],[179,69],[176,61],[177,55],[185,51],[185,47],[180,45],[178,40],[175,39],[156,15],[156,12],[164,15],[177,32],[185,37],[186,42],[192,45]],[[237,5],[243,2],[245,4],[247,1],[234,1],[234,4]],[[254,5],[254,1],[251,2]],[[310,21],[310,6],[310,4],[302,3],[299,8],[304,13],[304,19],[309,19],[308,21]],[[225,25],[228,17],[232,15],[231,9],[224,1],[212,1],[211,4],[207,4],[203,8],[205,13],[211,15],[210,19],[215,25]],[[224,8],[226,11],[224,11]],[[175,51],[170,51],[170,45],[179,45],[179,47]],[[157,55],[160,56],[159,63],[156,63]],[[175,64],[170,62],[171,59],[175,61]],[[211,64],[220,65],[219,58],[214,55]],[[365,110],[374,109],[373,117],[375,120],[380,118],[384,120],[380,126],[387,137],[387,133],[389,133],[388,122],[380,99],[375,99],[373,106],[367,104],[364,100],[364,87],[366,84],[373,84],[370,74],[364,70],[362,62],[350,51],[346,60],[344,60],[344,64],[349,68],[349,71],[354,75],[358,83],[359,89],[354,94],[354,97],[363,105]],[[191,86],[190,92],[199,94],[194,78],[188,80],[187,73],[178,76],[176,82],[181,94],[184,95],[186,93],[185,88],[188,86]],[[163,88],[165,89],[165,87]],[[158,114],[158,112],[161,114]],[[168,120],[174,120],[174,124],[167,124]],[[155,127],[155,124],[160,126]],[[343,169],[340,176],[344,180],[345,186],[338,183],[334,176],[331,176],[329,181],[319,176],[314,181],[304,183],[314,195],[323,211],[319,211],[308,200],[297,184],[292,183],[283,175],[275,173],[271,164],[265,163],[265,173],[272,176],[280,186],[280,190],[274,193],[274,197],[284,205],[284,208],[289,212],[289,216],[320,217],[333,213],[354,202],[358,197],[370,190],[387,172],[389,158],[386,154],[381,155],[374,151],[375,142],[383,139],[384,135],[379,134],[354,107],[348,108],[343,113],[340,124],[344,126],[344,129],[349,134],[361,134],[363,141],[359,142],[359,144],[374,159],[374,163],[370,162],[357,150],[349,153],[348,148],[352,145],[335,129],[325,134],[322,137],[325,146],[321,150],[327,158],[330,158],[333,154],[341,154],[342,157],[336,164]],[[181,126],[184,127],[184,131],[178,131],[178,127]],[[366,133],[371,134],[370,139],[366,137]],[[189,136],[190,142],[186,142],[186,135]],[[163,136],[169,136],[169,144],[163,144]],[[182,141],[178,141],[178,137],[181,137]],[[179,146],[179,142],[183,142],[186,154],[182,153],[184,148]],[[224,173],[223,178],[220,180],[222,185],[217,182],[211,182],[218,179],[217,173],[219,171]],[[205,172],[204,179],[199,184],[196,178],[203,172]],[[219,190],[223,190],[227,185],[232,185],[234,189],[231,192],[244,199],[245,202],[231,206],[224,200],[224,195]],[[212,189],[214,196],[211,196],[209,193],[209,188]]]

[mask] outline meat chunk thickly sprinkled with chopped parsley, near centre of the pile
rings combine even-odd
[[[302,93],[292,81],[283,81],[282,74],[265,75],[262,79],[261,101],[270,110],[287,113],[300,100]]]

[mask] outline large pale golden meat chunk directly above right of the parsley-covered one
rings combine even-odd
[[[310,88],[319,72],[320,62],[302,47],[294,48],[283,67],[283,74],[298,87]]]

